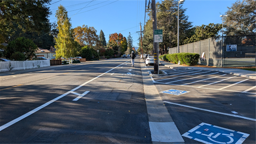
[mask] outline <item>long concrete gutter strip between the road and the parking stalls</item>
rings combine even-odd
[[[143,63],[141,63],[140,66],[152,143],[185,144],[185,141],[182,139],[177,126],[174,124],[171,115],[165,107],[155,84],[148,75],[147,67],[145,67]]]

